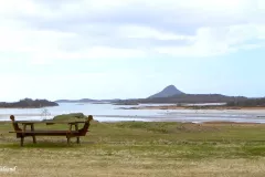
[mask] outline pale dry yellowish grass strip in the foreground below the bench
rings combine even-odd
[[[159,152],[157,152],[159,154]],[[13,155],[12,155],[13,154]],[[151,155],[151,153],[149,154]],[[261,176],[265,158],[201,159],[152,158],[139,152],[84,147],[64,149],[23,148],[1,150],[6,166],[18,166],[4,176]],[[11,157],[10,157],[11,156]],[[144,156],[144,157],[141,157]]]

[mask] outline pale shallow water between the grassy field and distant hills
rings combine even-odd
[[[140,104],[137,106],[156,105],[161,104]],[[0,121],[9,121],[11,114],[13,114],[19,121],[41,121],[50,119],[61,114],[84,113],[85,115],[93,115],[94,118],[99,122],[145,121],[202,123],[221,121],[265,123],[265,110],[124,110],[129,107],[136,106],[93,103],[60,103],[60,106],[44,108],[0,108]]]

